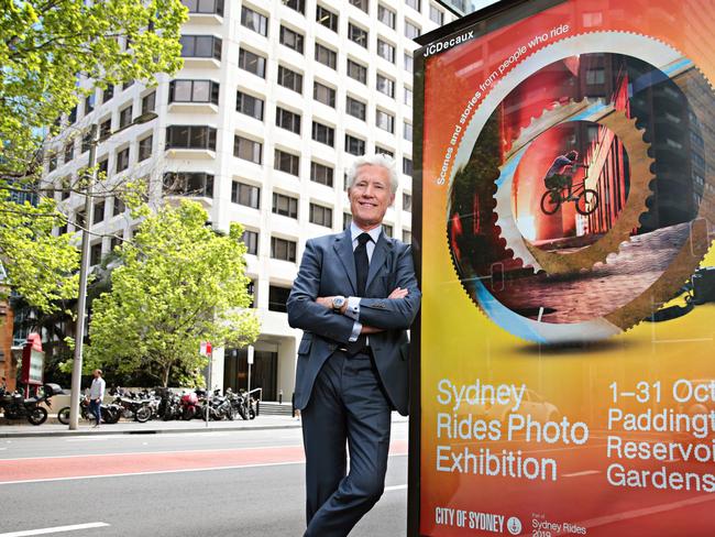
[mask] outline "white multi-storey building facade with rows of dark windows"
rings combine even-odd
[[[400,186],[385,231],[411,240],[413,40],[453,15],[429,0],[184,3],[184,68],[153,88],[96,89],[51,147],[46,179],[72,182],[87,165],[91,123],[101,136],[155,112],[100,143],[99,168],[110,179],[148,177],[154,201],[199,200],[217,229],[244,226],[262,324],[251,386],[289,399],[300,333],[288,327],[286,298],[306,240],[350,221],[345,172],[355,155],[394,156]],[[81,196],[57,199],[81,221]],[[121,200],[98,201],[91,229],[105,237],[92,239],[91,263],[135,226]],[[246,377],[245,349],[215,350],[213,387],[245,387]]]

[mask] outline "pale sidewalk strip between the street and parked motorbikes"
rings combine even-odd
[[[54,416],[53,416],[54,417]],[[393,424],[407,423],[408,418],[393,413]],[[67,425],[53,421],[52,417],[47,423],[33,426],[28,423],[15,425],[8,424],[0,418],[0,438],[35,438],[35,437],[64,437],[64,436],[89,436],[89,435],[161,435],[177,432],[215,432],[215,431],[238,431],[238,430],[261,430],[261,429],[294,429],[300,428],[300,418],[290,416],[258,416],[255,419],[234,421],[206,421],[191,419],[190,421],[162,421],[151,420],[145,424],[138,421],[120,421],[114,425],[102,424],[101,427],[92,428],[87,421],[80,421],[77,430],[69,430]]]

